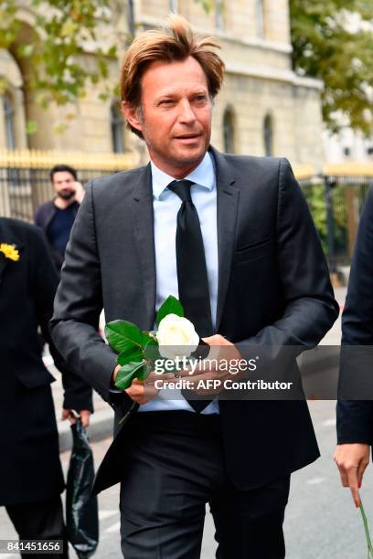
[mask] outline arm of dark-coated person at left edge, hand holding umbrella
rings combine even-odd
[[[31,258],[33,298],[36,303],[37,319],[43,337],[49,345],[49,351],[56,367],[62,374],[64,386],[63,417],[68,417],[69,411],[75,409],[80,413],[83,423],[87,426],[89,424],[89,416],[93,412],[91,386],[87,385],[77,374],[69,370],[62,356],[52,343],[48,322],[52,316],[53,301],[59,284],[59,275],[50,257],[48,244],[43,232],[37,229],[34,229],[34,231],[34,253]]]

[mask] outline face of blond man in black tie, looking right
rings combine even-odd
[[[128,121],[143,132],[152,161],[176,178],[196,168],[207,152],[211,109],[205,72],[192,57],[153,62],[142,78],[140,110],[123,103]]]

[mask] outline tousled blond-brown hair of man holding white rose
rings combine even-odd
[[[141,108],[141,79],[145,69],[158,60],[173,62],[193,57],[202,67],[208,81],[208,92],[211,99],[218,94],[224,76],[224,62],[214,52],[219,48],[212,37],[195,34],[184,17],[171,15],[167,25],[160,29],[144,31],[124,55],[121,94],[122,100],[133,108]],[[130,125],[138,136],[142,133]]]

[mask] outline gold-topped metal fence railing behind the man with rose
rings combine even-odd
[[[133,166],[130,154],[0,151],[0,216],[32,222],[37,206],[54,195],[49,170],[58,163],[75,167],[83,184]],[[359,216],[373,182],[373,163],[325,165],[322,174],[314,174],[310,165],[295,165],[293,171],[330,269],[349,264]]]

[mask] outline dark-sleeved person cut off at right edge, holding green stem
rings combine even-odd
[[[341,482],[357,507],[358,489],[373,444],[373,189],[360,218],[351,262],[345,310],[336,405],[337,447],[334,459]],[[359,399],[360,398],[360,399]]]

